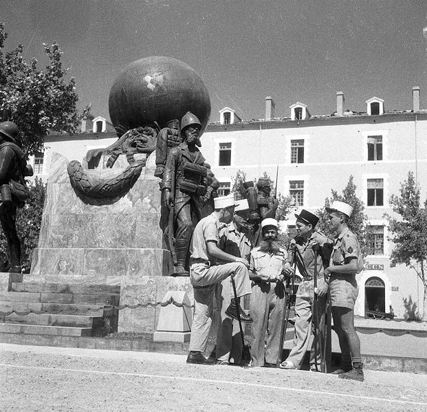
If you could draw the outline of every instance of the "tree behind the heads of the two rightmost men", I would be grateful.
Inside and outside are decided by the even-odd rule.
[[[366,224],[368,217],[364,214],[364,204],[362,200],[356,195],[357,186],[354,184],[353,176],[349,177],[347,186],[342,191],[342,195],[338,191],[331,189],[331,197],[325,199],[325,207],[329,207],[334,200],[348,203],[353,207],[353,213],[349,220],[349,228],[356,235],[359,240],[360,248],[362,248],[362,254],[366,256]],[[328,237],[333,237],[334,233],[329,225],[329,215],[325,208],[317,210],[319,222],[316,226],[320,232],[325,233]]]

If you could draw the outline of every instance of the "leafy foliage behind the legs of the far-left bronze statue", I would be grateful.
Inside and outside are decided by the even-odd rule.
[[[25,206],[17,210],[17,232],[21,240],[21,265],[24,272],[30,270],[32,251],[37,247],[37,243],[39,243],[46,185],[41,179],[36,177],[34,184],[31,184],[29,189],[30,197],[25,202]],[[7,270],[8,243],[6,243],[3,231],[0,233],[0,261],[3,265],[1,270]]]

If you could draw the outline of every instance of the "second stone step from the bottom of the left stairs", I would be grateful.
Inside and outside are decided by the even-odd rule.
[[[0,316],[2,323],[20,323],[26,325],[92,327],[94,319],[102,321],[102,316],[64,315],[64,314],[28,314],[20,316],[10,314]]]

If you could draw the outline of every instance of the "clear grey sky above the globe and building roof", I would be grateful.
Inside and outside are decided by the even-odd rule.
[[[47,64],[42,43],[57,41],[76,79],[78,108],[109,118],[111,85],[146,56],[178,58],[209,91],[210,121],[231,107],[245,120],[263,118],[265,96],[275,116],[303,102],[312,115],[412,109],[421,87],[427,109],[427,1],[397,0],[1,0],[0,21],[24,56]]]

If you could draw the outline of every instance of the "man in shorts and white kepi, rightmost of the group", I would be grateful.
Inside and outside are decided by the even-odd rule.
[[[363,258],[359,241],[348,226],[353,208],[335,201],[326,210],[331,228],[337,234],[331,263],[324,272],[331,294],[333,328],[342,354],[341,367],[333,373],[339,378],[363,381],[360,340],[354,328],[354,303],[358,297],[355,275],[363,269]]]

